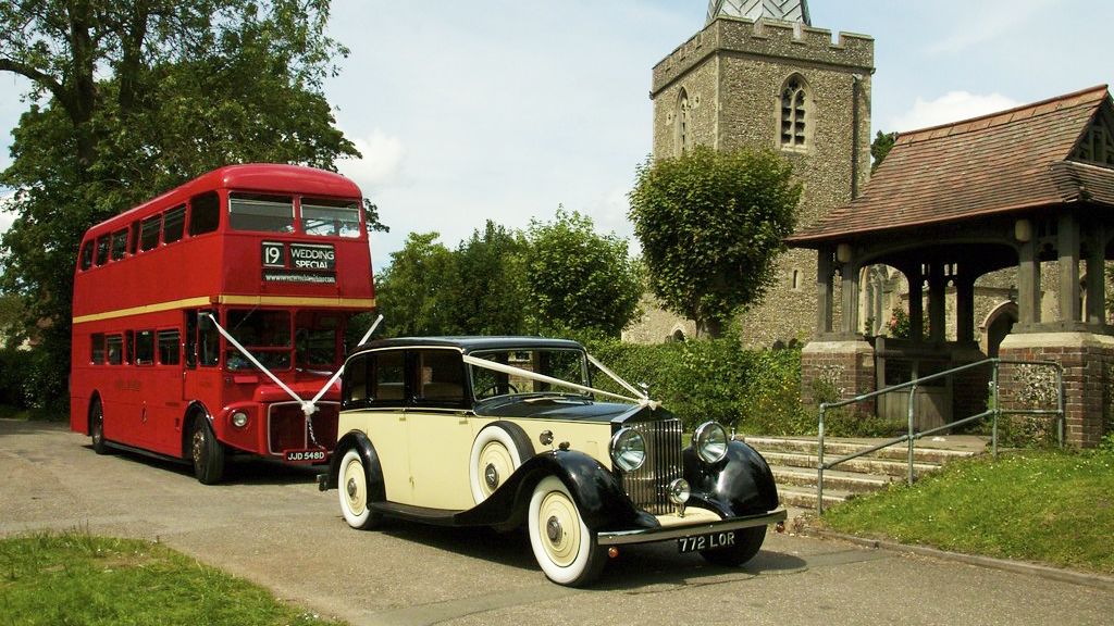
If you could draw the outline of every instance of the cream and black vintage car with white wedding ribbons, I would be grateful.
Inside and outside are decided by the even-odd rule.
[[[594,389],[596,370],[629,397]],[[319,483],[353,528],[525,522],[546,576],[584,585],[629,544],[739,565],[785,518],[758,452],[714,422],[683,448],[677,418],[574,341],[374,341],[349,358],[341,397]]]

